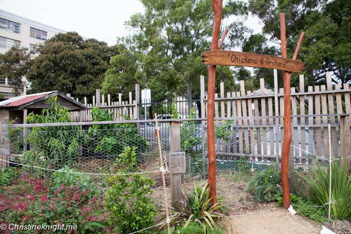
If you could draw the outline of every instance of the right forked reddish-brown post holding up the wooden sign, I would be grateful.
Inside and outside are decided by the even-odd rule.
[[[281,41],[281,57],[287,58],[286,51],[286,34],[285,34],[285,14],[279,14],[280,20],[280,41]],[[300,49],[302,39],[305,33],[303,32],[297,43],[297,47],[293,56],[293,60],[296,60],[298,51]],[[284,80],[284,140],[281,154],[281,187],[283,190],[283,207],[285,209],[290,206],[290,188],[289,188],[289,154],[290,154],[290,143],[291,143],[291,101],[290,101],[290,78],[291,72],[283,70]]]

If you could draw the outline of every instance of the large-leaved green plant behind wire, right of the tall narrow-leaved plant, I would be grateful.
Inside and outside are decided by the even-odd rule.
[[[94,107],[91,114],[93,122],[96,121],[113,121],[113,112],[108,114],[107,110],[99,110]],[[124,116],[124,118],[129,118]],[[142,138],[138,129],[132,123],[126,124],[99,124],[89,128],[89,134],[92,136],[93,143],[96,145],[94,152],[104,153],[116,157],[123,152],[127,146],[135,147],[135,152],[140,155],[141,149],[146,148],[149,143]]]

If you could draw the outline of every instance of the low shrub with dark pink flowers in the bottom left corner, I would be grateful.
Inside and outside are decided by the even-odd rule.
[[[42,179],[23,180],[30,184],[25,190],[26,196],[11,202],[12,199],[2,196],[5,202],[0,205],[0,223],[18,223],[33,225],[77,225],[79,233],[92,233],[105,224],[95,221],[102,211],[99,202],[90,189],[81,190],[78,185],[56,190],[49,189]],[[91,198],[93,197],[93,198]],[[9,198],[9,199],[8,199]],[[7,230],[9,233],[10,230]],[[17,233],[32,233],[33,230],[18,230]],[[67,233],[69,230],[57,231]]]

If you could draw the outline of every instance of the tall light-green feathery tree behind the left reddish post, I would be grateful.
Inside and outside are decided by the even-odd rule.
[[[213,30],[213,10],[210,0],[141,0],[144,14],[135,14],[126,22],[134,34],[120,38],[123,51],[111,60],[112,68],[106,72],[103,90],[128,86],[128,82],[157,84],[170,93],[192,97],[200,92],[200,75],[207,77],[201,53],[210,50]],[[241,5],[240,5],[241,6]],[[223,9],[228,20],[237,14],[238,5]],[[228,27],[234,45],[249,30],[242,22]],[[223,28],[222,28],[223,31]],[[230,46],[228,43],[224,46]],[[119,63],[114,63],[119,61]],[[132,65],[121,63],[133,61]],[[113,64],[112,64],[113,63]],[[125,65],[125,67],[123,67]],[[229,67],[221,67],[217,77],[233,81]],[[191,107],[190,107],[191,108]]]

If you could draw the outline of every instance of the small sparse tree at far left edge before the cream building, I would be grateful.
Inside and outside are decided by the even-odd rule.
[[[13,93],[19,96],[24,89],[24,77],[29,72],[33,60],[28,48],[13,46],[5,54],[0,54],[0,76],[8,78],[8,83],[13,86]]]

